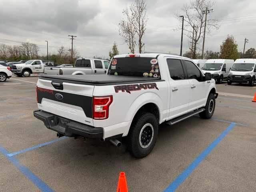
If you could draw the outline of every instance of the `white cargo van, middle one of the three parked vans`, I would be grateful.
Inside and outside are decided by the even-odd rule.
[[[222,83],[223,79],[228,78],[230,68],[234,64],[232,59],[208,59],[202,68],[202,72],[212,74],[212,78],[218,84]]]

